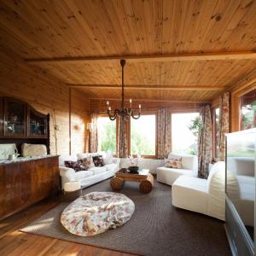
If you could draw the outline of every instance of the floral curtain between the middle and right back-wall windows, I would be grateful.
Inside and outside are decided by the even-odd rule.
[[[157,115],[157,157],[163,159],[172,150],[171,112],[169,109],[158,110]]]

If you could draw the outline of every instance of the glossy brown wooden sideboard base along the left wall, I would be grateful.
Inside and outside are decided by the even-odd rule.
[[[58,158],[0,164],[0,219],[60,192]]]

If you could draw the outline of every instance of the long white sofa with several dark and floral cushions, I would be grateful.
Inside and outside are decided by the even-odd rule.
[[[81,187],[86,188],[94,183],[101,182],[104,179],[113,177],[114,173],[119,170],[120,160],[113,158],[113,163],[102,167],[92,167],[87,171],[75,172],[72,168],[65,167],[66,160],[79,160],[85,158],[89,153],[84,154],[63,154],[59,158],[59,170],[61,175],[61,188],[67,182],[80,181]]]

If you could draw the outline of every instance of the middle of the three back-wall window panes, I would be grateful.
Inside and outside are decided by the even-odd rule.
[[[131,154],[155,155],[155,114],[131,119]]]

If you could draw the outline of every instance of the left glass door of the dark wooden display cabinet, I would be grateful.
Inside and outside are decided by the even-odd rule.
[[[18,101],[6,100],[4,135],[11,137],[26,136],[26,104]]]

